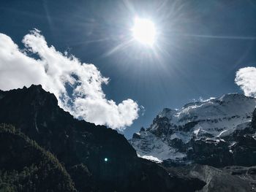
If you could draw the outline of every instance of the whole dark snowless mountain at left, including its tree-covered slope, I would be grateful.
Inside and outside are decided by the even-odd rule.
[[[0,132],[5,138],[1,140],[0,161],[4,163],[0,171],[10,177],[0,180],[0,191],[5,190],[6,183],[8,188],[22,187],[20,172],[26,167],[26,175],[30,175],[27,183],[37,187],[51,180],[48,191],[57,191],[53,183],[70,190],[74,187],[74,191],[195,191],[206,185],[203,180],[138,158],[123,135],[73,118],[40,85],[0,91],[0,123],[12,124],[18,130],[6,126]],[[51,160],[45,161],[48,157]],[[51,176],[35,183],[41,171],[37,174],[33,166],[42,167],[42,171],[47,166],[43,175]],[[64,179],[59,182],[60,178]]]

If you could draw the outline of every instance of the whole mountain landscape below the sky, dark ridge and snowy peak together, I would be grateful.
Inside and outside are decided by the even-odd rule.
[[[256,191],[255,104],[228,94],[164,109],[129,141],[136,152],[40,85],[0,91],[0,191]]]

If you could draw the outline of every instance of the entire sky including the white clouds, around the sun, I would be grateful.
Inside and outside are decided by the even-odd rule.
[[[132,40],[136,17],[154,46]],[[256,96],[255,67],[255,1],[0,1],[0,89],[42,84],[127,138],[165,107]]]

